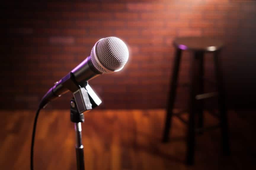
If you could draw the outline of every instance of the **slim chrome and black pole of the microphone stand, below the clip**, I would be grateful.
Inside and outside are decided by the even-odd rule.
[[[75,123],[76,131],[76,164],[77,170],[84,170],[84,146],[82,145],[81,122]]]

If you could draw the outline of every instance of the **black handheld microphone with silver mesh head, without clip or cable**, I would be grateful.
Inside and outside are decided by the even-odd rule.
[[[128,48],[121,39],[117,37],[100,39],[93,46],[90,56],[49,89],[39,107],[45,107],[53,99],[68,92],[70,88],[68,89],[67,86],[70,86],[71,81],[82,84],[100,74],[120,71],[128,58]]]

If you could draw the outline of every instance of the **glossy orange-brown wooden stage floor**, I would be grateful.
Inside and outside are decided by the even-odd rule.
[[[0,169],[29,169],[34,111],[1,111]],[[206,124],[214,124],[206,115]],[[252,115],[251,113],[248,115]],[[76,169],[75,133],[68,110],[43,110],[35,141],[35,170]],[[85,114],[85,169],[254,169],[254,120],[229,112],[231,156],[220,130],[196,138],[194,166],[185,165],[185,126],[173,118],[172,139],[161,143],[164,110],[94,110]],[[255,116],[254,116],[255,117]]]

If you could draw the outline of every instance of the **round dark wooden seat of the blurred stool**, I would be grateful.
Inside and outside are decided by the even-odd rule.
[[[223,47],[223,41],[217,37],[177,37],[174,45],[181,50],[216,51]]]

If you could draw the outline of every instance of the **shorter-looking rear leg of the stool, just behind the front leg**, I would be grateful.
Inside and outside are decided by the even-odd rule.
[[[196,52],[196,57],[198,60],[198,73],[197,73],[197,94],[204,93],[204,52]],[[203,100],[196,101],[196,113],[198,114],[198,128],[204,127],[204,102]],[[203,131],[201,131],[201,134]]]

